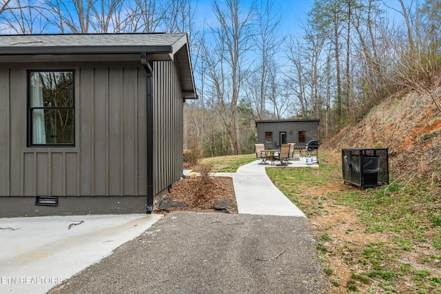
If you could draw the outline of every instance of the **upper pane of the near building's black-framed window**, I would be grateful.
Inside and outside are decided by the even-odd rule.
[[[72,107],[73,72],[31,72],[31,107]]]

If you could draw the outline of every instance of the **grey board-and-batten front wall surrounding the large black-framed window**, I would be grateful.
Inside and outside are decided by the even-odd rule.
[[[147,195],[143,67],[74,68],[76,145],[57,148],[26,146],[28,69],[0,70],[0,196]]]

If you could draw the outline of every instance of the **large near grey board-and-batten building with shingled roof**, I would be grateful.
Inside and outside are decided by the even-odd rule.
[[[193,98],[187,34],[0,35],[0,217],[151,213]]]

